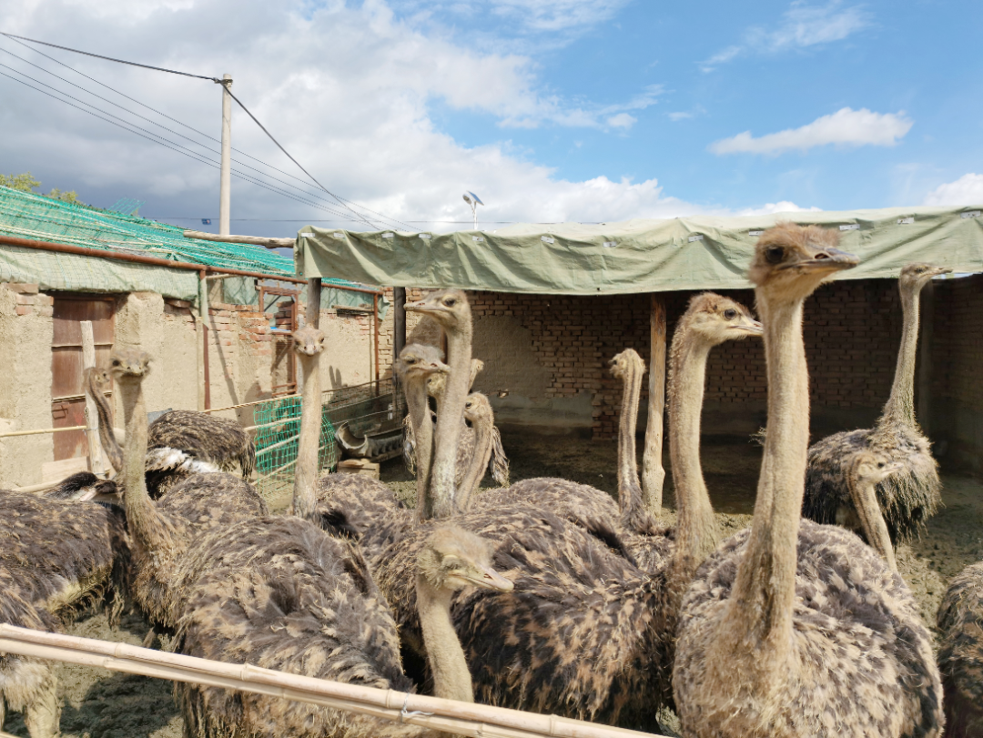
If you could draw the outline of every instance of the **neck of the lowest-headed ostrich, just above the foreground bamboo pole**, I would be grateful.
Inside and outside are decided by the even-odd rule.
[[[468,661],[450,621],[451,596],[417,575],[417,607],[427,661],[434,673],[434,697],[473,703]]]

